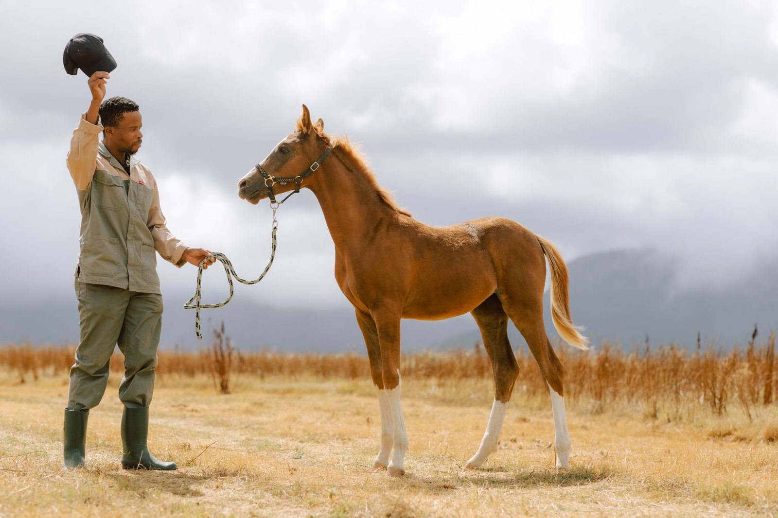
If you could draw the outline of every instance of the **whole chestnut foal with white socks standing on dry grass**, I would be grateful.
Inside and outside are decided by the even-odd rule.
[[[496,449],[519,374],[508,342],[509,319],[527,340],[548,384],[556,466],[569,468],[564,369],[543,325],[546,259],[557,332],[579,349],[587,349],[587,339],[571,322],[567,268],[554,245],[503,217],[450,227],[416,221],[377,184],[349,141],[325,134],[321,119],[311,123],[304,105],[295,131],[240,180],[238,194],[254,204],[267,197],[279,203],[276,194],[301,187],[313,191],[321,204],[335,242],[335,279],[353,304],[365,338],[381,418],[374,467],[393,476],[405,473],[400,319],[440,320],[469,312],[492,362],[495,395],[483,440],[467,468],[480,468]]]

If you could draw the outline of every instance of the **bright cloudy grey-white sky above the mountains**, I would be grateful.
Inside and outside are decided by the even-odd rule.
[[[141,106],[138,157],[170,229],[247,278],[268,260],[271,211],[236,184],[303,103],[428,224],[510,217],[568,261],[652,246],[682,259],[689,285],[778,255],[772,2],[3,0],[2,12],[6,301],[72,297],[80,214],[65,155],[89,90],[62,50],[80,32],[117,60],[108,95]],[[348,304],[313,194],[279,222],[271,273],[233,304]],[[195,268],[160,260],[159,273],[165,294],[194,291]],[[219,271],[205,283],[206,298],[226,293]]]

